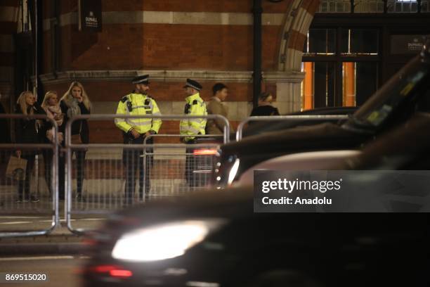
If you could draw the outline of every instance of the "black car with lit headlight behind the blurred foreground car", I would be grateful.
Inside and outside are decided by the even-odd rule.
[[[224,188],[264,160],[289,153],[360,148],[382,132],[426,110],[429,96],[430,42],[344,123],[294,127],[249,136],[221,146],[213,183]]]

